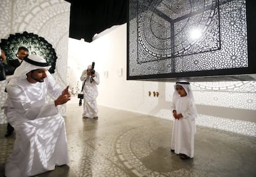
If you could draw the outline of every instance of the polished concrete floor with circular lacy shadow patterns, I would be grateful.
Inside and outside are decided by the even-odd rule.
[[[256,176],[256,138],[197,126],[195,157],[170,152],[173,122],[99,106],[99,119],[82,120],[82,107],[67,104],[70,163],[39,177]],[[0,125],[0,176],[15,134]]]

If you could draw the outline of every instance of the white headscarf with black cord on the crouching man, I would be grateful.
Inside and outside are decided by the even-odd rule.
[[[27,73],[31,72],[32,70],[41,68],[48,70],[50,67],[51,66],[49,63],[43,57],[31,55],[25,57],[22,64],[15,69],[13,78],[18,78],[19,80],[27,79]],[[47,71],[46,75],[50,75],[50,73]]]

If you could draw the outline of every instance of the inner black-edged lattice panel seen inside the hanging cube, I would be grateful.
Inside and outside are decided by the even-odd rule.
[[[153,1],[149,7],[139,3],[138,63],[220,49],[217,5],[216,1],[210,6],[165,0]],[[203,38],[190,39],[194,27],[202,28]]]

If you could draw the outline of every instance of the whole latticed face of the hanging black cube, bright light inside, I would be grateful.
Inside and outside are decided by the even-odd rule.
[[[129,76],[248,67],[244,0],[137,1]],[[231,42],[232,41],[232,42]]]

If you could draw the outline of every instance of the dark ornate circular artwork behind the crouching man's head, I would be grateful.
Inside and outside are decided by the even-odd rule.
[[[19,47],[27,47],[30,55],[33,54],[46,59],[51,65],[49,72],[54,73],[57,60],[56,52],[45,38],[24,31],[10,35],[8,39],[1,39],[0,46],[4,50],[7,60],[17,59],[16,54]]]

